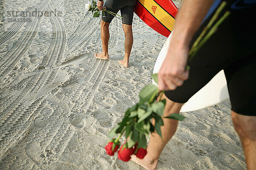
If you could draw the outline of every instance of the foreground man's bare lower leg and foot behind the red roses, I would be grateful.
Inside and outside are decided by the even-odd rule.
[[[172,102],[165,95],[163,98],[166,99],[166,106],[164,108],[163,116],[169,116],[172,113],[179,113],[182,103]],[[154,124],[154,122],[152,122]],[[157,133],[152,133],[150,135],[147,155],[144,159],[138,159],[136,156],[132,157],[132,161],[140,164],[147,170],[155,170],[157,168],[157,162],[160,157],[160,153],[167,144],[167,142],[172,138],[177,130],[178,121],[174,119],[163,118],[163,126],[161,126],[162,139]]]

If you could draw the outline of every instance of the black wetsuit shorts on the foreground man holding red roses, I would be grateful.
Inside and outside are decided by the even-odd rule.
[[[221,0],[215,0],[215,4],[217,1]],[[230,16],[188,63],[189,79],[181,87],[166,91],[165,94],[174,102],[185,103],[223,69],[231,110],[242,115],[256,116],[256,2],[228,2]],[[216,8],[212,14],[208,13],[209,16],[194,35],[191,46],[212,18]]]

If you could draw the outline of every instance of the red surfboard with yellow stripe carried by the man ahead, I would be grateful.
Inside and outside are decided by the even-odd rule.
[[[173,30],[178,8],[172,0],[137,0],[134,12],[152,29],[168,37]]]

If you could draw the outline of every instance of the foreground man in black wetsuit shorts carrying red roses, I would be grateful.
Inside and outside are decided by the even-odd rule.
[[[179,113],[182,105],[224,69],[230,94],[231,118],[239,135],[248,170],[256,170],[256,0],[228,0],[230,16],[202,46],[185,70],[188,52],[222,0],[184,0],[177,14],[169,51],[158,73],[165,91],[163,116]],[[224,13],[224,12],[223,12]],[[150,136],[144,159],[132,161],[154,170],[178,121],[163,119],[162,139]]]

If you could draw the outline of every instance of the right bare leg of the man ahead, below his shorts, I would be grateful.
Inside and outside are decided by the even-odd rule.
[[[129,67],[129,57],[131,54],[131,47],[133,44],[133,34],[132,34],[132,26],[131,25],[122,25],[125,32],[125,57],[123,60],[118,60],[120,64],[124,67]]]

